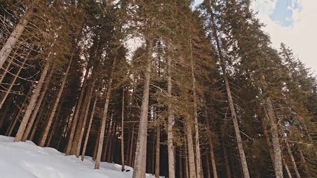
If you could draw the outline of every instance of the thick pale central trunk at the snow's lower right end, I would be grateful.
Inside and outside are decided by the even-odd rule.
[[[147,131],[148,131],[148,109],[149,109],[149,92],[150,92],[150,80],[151,80],[151,63],[152,63],[152,50],[153,40],[148,42],[147,51],[147,64],[144,71],[144,88],[141,105],[141,116],[139,123],[139,132],[137,147],[135,153],[134,170],[132,178],[144,178],[146,169],[146,155],[147,155]]]

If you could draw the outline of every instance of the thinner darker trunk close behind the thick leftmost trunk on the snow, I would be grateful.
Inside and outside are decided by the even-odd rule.
[[[54,72],[54,69],[51,69],[51,71],[49,73],[49,76],[47,78],[47,82],[46,82],[46,84],[44,86],[44,89],[41,92],[40,98],[39,98],[38,102],[36,103],[36,106],[35,106],[35,108],[34,108],[34,110],[32,112],[32,116],[31,116],[31,118],[29,120],[29,123],[28,123],[28,125],[27,125],[27,127],[26,127],[26,129],[24,131],[24,134],[23,134],[23,137],[22,137],[22,141],[26,141],[26,139],[28,138],[28,136],[29,136],[29,134],[31,132],[31,129],[32,129],[34,120],[36,118],[36,115],[38,114],[38,111],[39,111],[40,106],[42,104],[43,98],[44,98],[44,96],[46,94],[46,91],[49,88],[49,85],[50,85],[50,82],[51,82],[51,78],[53,76],[53,72]]]

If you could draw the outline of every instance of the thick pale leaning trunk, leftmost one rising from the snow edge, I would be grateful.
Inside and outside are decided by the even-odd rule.
[[[40,91],[41,91],[44,79],[45,79],[45,77],[46,77],[46,75],[47,75],[47,73],[49,71],[49,68],[50,68],[50,63],[49,63],[49,61],[46,61],[43,73],[41,75],[41,78],[40,78],[40,80],[38,82],[38,85],[37,85],[34,93],[32,94],[30,103],[28,105],[28,108],[25,111],[25,114],[23,116],[23,119],[22,119],[22,122],[20,124],[19,130],[18,130],[18,132],[15,135],[14,141],[21,141],[22,140],[22,136],[24,134],[26,125],[29,122],[29,119],[30,119],[30,116],[31,116],[31,113],[32,113],[32,110],[33,110],[33,107],[34,107],[34,104],[35,104],[35,102],[36,102],[36,100],[38,98],[38,95],[39,95]]]

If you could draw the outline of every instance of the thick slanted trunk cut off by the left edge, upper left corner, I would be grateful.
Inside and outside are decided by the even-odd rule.
[[[2,46],[2,48],[0,50],[0,68],[2,68],[4,61],[8,58],[13,47],[16,45],[17,41],[19,40],[20,36],[22,35],[22,33],[25,29],[25,26],[28,24],[28,18],[29,18],[29,13],[28,13],[28,11],[26,11],[23,18],[20,20],[20,22],[14,28],[10,37],[6,40],[5,44]]]

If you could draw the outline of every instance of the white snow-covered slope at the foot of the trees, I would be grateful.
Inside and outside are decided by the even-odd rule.
[[[0,178],[132,178],[131,167],[121,172],[117,164],[102,162],[100,170],[94,170],[94,165],[89,156],[81,161],[53,148],[41,148],[31,141],[13,142],[13,137],[0,135]]]

